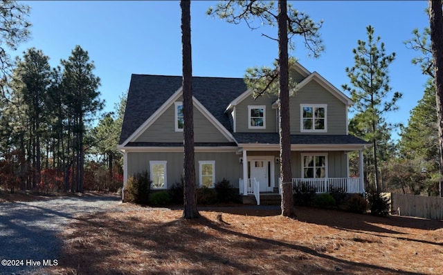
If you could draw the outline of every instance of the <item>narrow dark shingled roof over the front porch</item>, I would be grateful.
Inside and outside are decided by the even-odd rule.
[[[233,133],[239,144],[279,144],[278,133]],[[369,145],[353,135],[291,135],[291,144]]]

